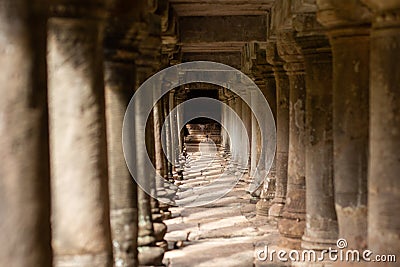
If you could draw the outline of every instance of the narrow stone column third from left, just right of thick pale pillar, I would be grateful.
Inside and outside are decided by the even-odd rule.
[[[137,185],[122,150],[122,123],[133,95],[135,65],[129,47],[119,47],[121,41],[129,43],[119,38],[129,29],[121,28],[119,22],[110,18],[106,26],[104,75],[114,265],[128,267],[138,266],[138,209]]]

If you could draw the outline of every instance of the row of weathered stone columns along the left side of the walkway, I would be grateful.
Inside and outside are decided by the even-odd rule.
[[[145,1],[1,4],[1,62],[8,66],[0,78],[7,96],[0,127],[2,266],[162,265],[166,226],[158,203],[132,179],[121,142],[135,85],[161,67],[156,10],[156,2]],[[161,133],[163,112],[176,100],[163,110],[165,103],[151,132]],[[176,130],[168,135],[179,136]],[[157,137],[148,138],[155,166],[167,174]],[[166,191],[172,198],[175,191]],[[162,211],[168,214],[168,205]]]

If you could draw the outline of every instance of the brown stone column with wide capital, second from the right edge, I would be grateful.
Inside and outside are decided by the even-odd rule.
[[[319,1],[333,54],[334,187],[339,236],[367,245],[369,9],[360,1]],[[351,10],[351,12],[350,12]],[[347,12],[348,11],[348,12]]]

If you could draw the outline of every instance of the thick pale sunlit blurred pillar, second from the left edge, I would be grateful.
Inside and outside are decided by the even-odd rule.
[[[105,1],[53,1],[48,28],[54,266],[112,266]]]

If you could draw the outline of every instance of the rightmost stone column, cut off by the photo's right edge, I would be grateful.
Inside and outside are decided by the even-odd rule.
[[[374,254],[399,257],[400,1],[364,2],[374,10],[370,48],[368,248]]]

